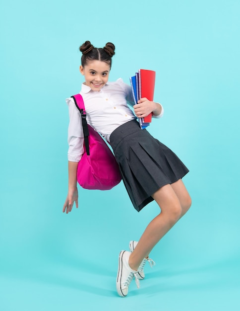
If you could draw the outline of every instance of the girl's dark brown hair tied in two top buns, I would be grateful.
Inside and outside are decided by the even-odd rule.
[[[80,48],[82,52],[81,63],[84,67],[89,61],[102,61],[112,66],[112,57],[115,54],[115,45],[108,42],[104,48],[95,48],[90,41],[84,42]]]

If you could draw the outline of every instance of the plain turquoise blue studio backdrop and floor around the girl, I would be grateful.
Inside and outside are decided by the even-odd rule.
[[[240,309],[240,2],[2,1],[0,310]],[[154,248],[141,288],[115,290],[118,254],[157,215],[123,184],[79,189],[65,215],[65,98],[79,45],[116,45],[110,80],[156,71],[165,115],[149,131],[190,169],[188,214]]]

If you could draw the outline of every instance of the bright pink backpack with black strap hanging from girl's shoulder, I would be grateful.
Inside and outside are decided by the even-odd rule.
[[[98,132],[87,124],[82,96],[71,97],[80,111],[84,135],[84,154],[77,166],[77,181],[85,189],[112,189],[121,181],[115,156]]]

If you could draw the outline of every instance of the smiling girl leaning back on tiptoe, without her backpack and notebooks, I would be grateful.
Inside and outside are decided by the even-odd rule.
[[[122,180],[134,208],[139,212],[155,200],[161,212],[147,226],[138,242],[130,241],[130,251],[119,255],[117,291],[127,295],[128,286],[135,277],[144,278],[143,267],[156,243],[177,223],[191,205],[190,196],[181,180],[188,169],[165,145],[154,139],[146,129],[141,130],[136,118],[153,113],[163,115],[162,105],[141,98],[134,105],[131,87],[121,79],[108,82],[115,54],[115,46],[107,43],[104,48],[95,48],[86,41],[80,46],[82,52],[80,73],[84,76],[81,95],[87,112],[87,122],[110,142]],[[68,128],[68,194],[63,212],[71,212],[75,202],[78,208],[76,171],[83,154],[83,132],[80,114],[72,98],[67,98],[69,107]],[[134,113],[127,106],[133,106]]]

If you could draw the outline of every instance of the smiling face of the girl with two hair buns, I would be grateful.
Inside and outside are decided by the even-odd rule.
[[[93,91],[100,91],[108,82],[110,65],[102,61],[91,61],[84,67],[80,66],[80,73],[85,77],[86,85]]]

